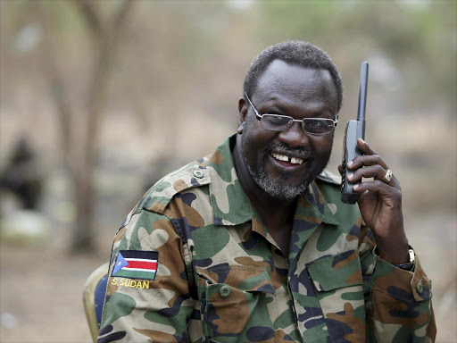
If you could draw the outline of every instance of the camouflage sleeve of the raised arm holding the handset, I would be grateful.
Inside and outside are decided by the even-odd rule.
[[[362,227],[359,251],[367,314],[366,341],[434,342],[431,280],[418,255],[414,271],[407,272],[375,255],[374,247],[371,230]]]

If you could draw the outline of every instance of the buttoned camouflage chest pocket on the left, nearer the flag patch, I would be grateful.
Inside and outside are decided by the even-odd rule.
[[[275,290],[267,269],[220,264],[195,271],[206,340],[247,342],[270,334],[267,304]]]

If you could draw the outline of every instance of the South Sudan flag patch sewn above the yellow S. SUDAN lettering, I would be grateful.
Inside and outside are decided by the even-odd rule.
[[[112,276],[154,280],[159,262],[157,251],[120,250]]]

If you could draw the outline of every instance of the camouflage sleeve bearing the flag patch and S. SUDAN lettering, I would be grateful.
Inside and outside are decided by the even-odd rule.
[[[112,245],[98,343],[187,341],[193,301],[181,238],[159,213],[127,222]]]

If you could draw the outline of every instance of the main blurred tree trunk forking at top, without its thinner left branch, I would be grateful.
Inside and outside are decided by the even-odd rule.
[[[76,1],[80,13],[87,21],[87,27],[95,39],[95,72],[89,88],[87,100],[86,131],[82,140],[81,163],[73,174],[77,207],[76,225],[73,229],[71,250],[73,252],[92,252],[96,248],[94,241],[94,213],[96,189],[94,174],[96,169],[96,146],[102,121],[108,78],[119,45],[120,33],[133,2],[125,0],[111,23],[103,26],[92,2]]]

